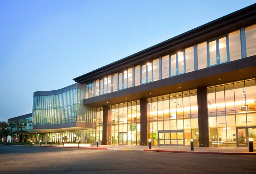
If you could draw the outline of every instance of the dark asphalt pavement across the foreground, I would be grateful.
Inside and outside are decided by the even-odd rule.
[[[256,173],[256,156],[1,146],[0,173]]]

